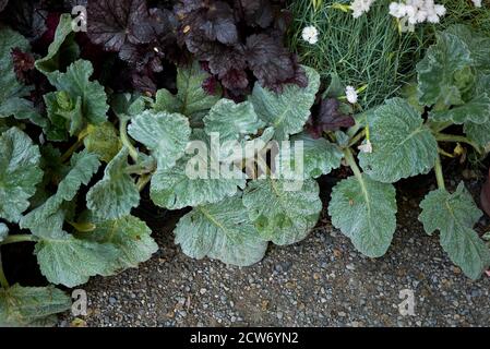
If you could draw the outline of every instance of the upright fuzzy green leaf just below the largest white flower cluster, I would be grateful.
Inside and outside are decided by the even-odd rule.
[[[417,64],[419,101],[426,106],[443,103],[461,105],[462,96],[456,85],[456,72],[470,67],[474,61],[465,43],[450,33],[439,33],[438,43],[427,50]]]

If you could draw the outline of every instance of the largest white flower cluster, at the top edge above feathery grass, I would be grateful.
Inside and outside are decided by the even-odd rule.
[[[390,4],[390,14],[405,19],[409,25],[423,22],[439,23],[445,12],[444,5],[434,3],[434,0],[405,0]]]

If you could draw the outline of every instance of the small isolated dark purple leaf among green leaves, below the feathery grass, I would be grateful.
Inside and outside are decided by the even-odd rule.
[[[320,112],[310,118],[307,129],[313,137],[319,139],[323,132],[350,128],[355,123],[351,116],[342,113],[338,99],[327,98],[322,100]]]

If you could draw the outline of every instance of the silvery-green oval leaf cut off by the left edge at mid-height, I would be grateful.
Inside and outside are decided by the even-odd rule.
[[[17,222],[43,180],[39,148],[17,128],[0,136],[0,218]]]

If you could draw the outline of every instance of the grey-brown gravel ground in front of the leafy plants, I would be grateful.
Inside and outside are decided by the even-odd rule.
[[[398,194],[398,229],[379,260],[356,252],[327,218],[294,246],[272,246],[249,268],[193,261],[156,234],[160,251],[139,269],[93,278],[87,326],[488,326],[490,277],[466,278]],[[483,225],[488,225],[483,218]],[[414,291],[415,315],[399,313]],[[73,317],[65,315],[61,326]]]

